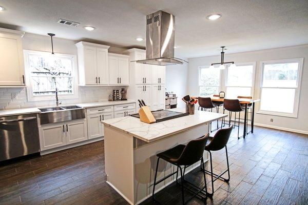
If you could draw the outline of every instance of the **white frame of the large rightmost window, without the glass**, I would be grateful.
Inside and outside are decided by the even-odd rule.
[[[260,103],[259,103],[259,111],[257,112],[257,114],[276,115],[276,116],[293,117],[293,118],[298,117],[298,107],[299,107],[299,100],[300,100],[303,60],[304,60],[304,58],[291,58],[291,59],[260,61],[260,71],[261,71],[260,72],[260,82],[259,82],[260,83]],[[296,87],[287,87],[287,88],[284,88],[284,87],[263,87],[262,84],[263,84],[264,64],[294,63],[294,62],[298,62],[298,75],[297,75],[297,86]],[[261,110],[262,88],[295,89],[293,113]],[[277,102],[273,102],[273,103],[277,103]]]

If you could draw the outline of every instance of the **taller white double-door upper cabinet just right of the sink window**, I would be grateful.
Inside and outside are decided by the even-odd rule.
[[[80,85],[108,85],[109,46],[79,42],[78,67]]]

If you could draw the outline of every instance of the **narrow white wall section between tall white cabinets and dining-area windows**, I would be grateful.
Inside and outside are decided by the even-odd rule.
[[[178,107],[184,108],[181,98],[187,95],[188,65],[166,66],[166,91],[174,92],[178,96]]]

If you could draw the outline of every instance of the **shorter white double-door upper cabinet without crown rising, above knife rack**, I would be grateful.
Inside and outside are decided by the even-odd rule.
[[[109,84],[129,85],[129,56],[109,53]]]

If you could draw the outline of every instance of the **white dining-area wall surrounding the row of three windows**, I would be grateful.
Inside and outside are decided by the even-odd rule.
[[[255,124],[263,124],[281,128],[284,130],[296,131],[308,134],[308,45],[293,46],[277,49],[267,49],[243,53],[225,54],[225,61],[235,61],[235,63],[244,63],[256,61],[256,80],[254,97],[260,98],[260,61],[263,60],[276,60],[288,58],[304,58],[302,80],[301,80],[301,93],[299,101],[298,118],[281,117],[273,115],[256,114]],[[198,86],[198,67],[217,63],[220,60],[220,55],[207,56],[199,58],[190,58],[188,64],[188,93],[190,95],[199,95]],[[273,103],[279,103],[273,102]],[[256,104],[256,112],[259,109],[259,103]],[[270,122],[273,118],[274,121]]]

